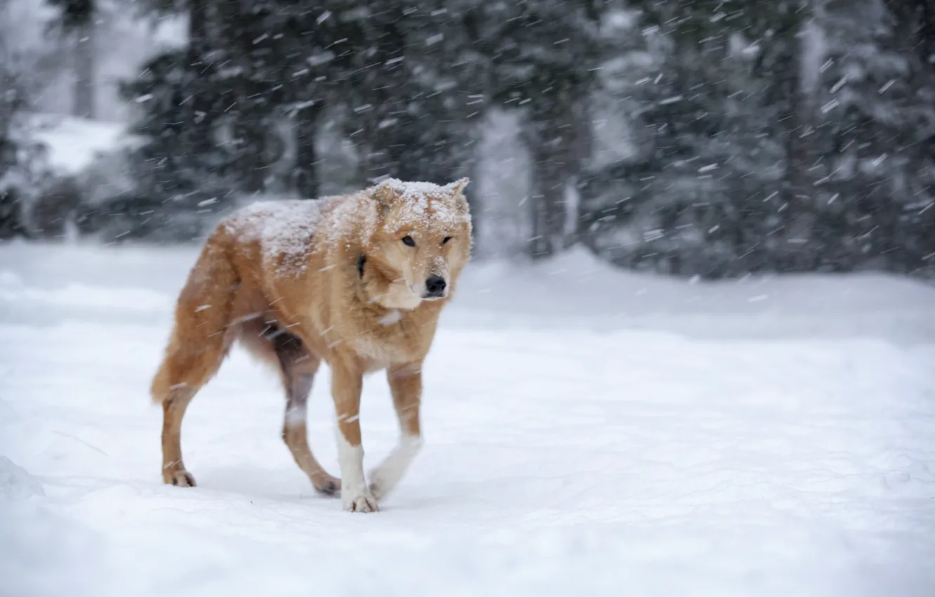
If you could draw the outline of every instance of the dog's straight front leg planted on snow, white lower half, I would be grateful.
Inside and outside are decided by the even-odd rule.
[[[376,512],[374,499],[364,479],[364,445],[360,437],[361,371],[335,363],[331,369],[331,397],[338,415],[338,463],[341,467],[341,502],[350,512]]]

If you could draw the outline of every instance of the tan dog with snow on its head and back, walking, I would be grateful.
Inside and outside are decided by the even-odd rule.
[[[422,366],[439,315],[471,252],[463,178],[446,185],[387,179],[350,195],[257,202],[205,241],[176,304],[151,384],[163,407],[163,480],[194,487],[181,422],[199,388],[241,344],[279,372],[282,439],[314,488],[345,510],[377,512],[422,445]],[[321,362],[331,370],[341,478],[309,449],[306,402]],[[360,397],[386,371],[400,439],[367,484]]]

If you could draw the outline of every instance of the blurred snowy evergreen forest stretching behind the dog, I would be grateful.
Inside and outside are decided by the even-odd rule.
[[[935,0],[32,1],[41,44],[0,25],[0,238],[187,241],[256,197],[470,176],[479,255],[935,277]],[[36,74],[106,120],[118,17],[186,35],[119,83],[133,142],[57,174]]]

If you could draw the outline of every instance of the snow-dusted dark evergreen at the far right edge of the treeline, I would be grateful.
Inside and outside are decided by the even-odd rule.
[[[917,53],[923,29],[874,1],[827,8],[821,132],[831,174],[819,226],[827,267],[930,269],[935,72]]]

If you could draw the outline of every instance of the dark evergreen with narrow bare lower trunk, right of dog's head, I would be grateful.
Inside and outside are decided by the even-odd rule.
[[[525,113],[534,258],[554,255],[573,241],[566,235],[567,197],[590,157],[588,98],[597,67],[620,42],[601,36],[603,4],[456,3],[472,50],[484,61],[490,101]]]

